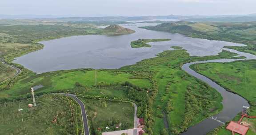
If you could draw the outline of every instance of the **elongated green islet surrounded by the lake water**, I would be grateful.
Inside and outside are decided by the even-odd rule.
[[[142,47],[151,47],[151,45],[147,44],[150,42],[161,42],[161,41],[169,41],[170,39],[152,39],[152,40],[148,40],[148,39],[139,39],[136,41],[132,41],[131,42],[131,47],[132,48],[142,48]]]

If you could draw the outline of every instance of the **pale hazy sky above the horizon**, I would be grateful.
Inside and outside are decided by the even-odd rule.
[[[256,13],[256,0],[0,0],[0,14],[71,16]]]

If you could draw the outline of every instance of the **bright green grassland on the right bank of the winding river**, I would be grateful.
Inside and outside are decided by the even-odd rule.
[[[249,115],[256,115],[256,60],[236,61],[230,63],[208,63],[192,65],[192,68],[203,74],[229,91],[235,92],[245,99],[251,105]],[[234,119],[238,120],[239,115]],[[256,119],[244,119],[251,123],[248,135],[256,134]],[[226,135],[224,127],[216,129],[212,135]],[[230,133],[229,133],[230,134]]]

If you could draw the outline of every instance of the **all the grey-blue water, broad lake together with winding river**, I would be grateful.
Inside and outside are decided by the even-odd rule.
[[[135,64],[136,62],[155,57],[155,54],[164,50],[172,50],[171,46],[181,46],[188,50],[190,56],[209,56],[217,55],[224,46],[243,46],[224,41],[204,40],[189,38],[180,34],[168,32],[156,32],[140,29],[140,26],[156,24],[136,23],[125,25],[124,27],[136,31],[136,33],[122,36],[71,36],[57,40],[42,41],[45,47],[42,50],[29,53],[14,60],[14,63],[40,74],[47,71],[67,70],[75,68],[120,68],[125,65]],[[131,48],[130,42],[137,39],[158,39],[167,38],[171,41],[150,43],[151,48]],[[225,49],[235,52],[247,59],[256,59],[256,56]],[[212,118],[205,119],[199,124],[188,128],[182,135],[205,135],[212,129],[234,118],[241,110],[242,106],[249,106],[248,102],[239,95],[226,91],[223,87],[213,82],[211,79],[193,71],[189,66],[192,64],[209,62],[231,62],[235,60],[209,60],[184,64],[182,69],[188,74],[208,83],[223,96],[223,110]]]

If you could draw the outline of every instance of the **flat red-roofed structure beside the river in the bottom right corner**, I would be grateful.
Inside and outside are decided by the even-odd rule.
[[[238,133],[240,135],[246,135],[247,131],[249,130],[249,127],[231,121],[226,127],[226,129]]]

